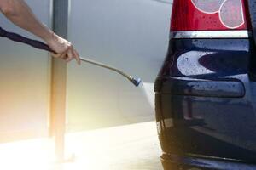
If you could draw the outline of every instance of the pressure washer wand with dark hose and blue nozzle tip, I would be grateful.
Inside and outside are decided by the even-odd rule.
[[[49,48],[49,46],[47,44],[45,44],[44,42],[39,42],[37,40],[32,40],[29,39],[27,37],[22,37],[19,34],[13,33],[13,32],[9,32],[9,31],[5,31],[3,30],[3,28],[0,27],[0,37],[7,37],[12,41],[15,42],[22,42],[22,43],[26,43],[27,45],[32,46],[33,48],[38,48],[38,49],[43,49],[46,51],[49,51],[51,53],[55,53],[51,48]],[[136,78],[136,77],[132,77],[127,75],[124,71],[120,71],[119,69],[110,66],[110,65],[105,65],[99,62],[96,62],[94,60],[91,59],[84,59],[84,58],[80,58],[82,61],[86,62],[86,63],[90,63],[92,65],[97,65],[103,68],[106,68],[108,70],[111,71],[115,71],[117,73],[119,73],[120,75],[122,75],[123,77],[127,78],[130,82],[132,82],[136,87],[139,86],[139,84],[142,82],[140,78]]]

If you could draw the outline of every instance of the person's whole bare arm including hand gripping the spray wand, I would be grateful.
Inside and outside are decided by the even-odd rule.
[[[53,54],[55,57],[65,59],[67,62],[76,59],[80,64],[79,54],[73,44],[44,26],[24,0],[0,0],[0,10],[16,26],[41,37],[49,45],[49,48],[57,53]]]

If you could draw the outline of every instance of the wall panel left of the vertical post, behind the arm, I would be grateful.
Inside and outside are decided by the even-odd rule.
[[[49,25],[49,1],[26,0]],[[0,26],[33,37],[0,14]],[[0,141],[47,133],[50,63],[46,52],[0,38]]]

